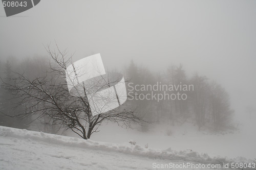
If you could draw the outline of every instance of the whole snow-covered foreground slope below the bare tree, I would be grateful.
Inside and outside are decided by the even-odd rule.
[[[153,165],[251,161],[210,158],[191,150],[145,149],[129,142],[115,144],[0,127],[0,169],[157,169]]]

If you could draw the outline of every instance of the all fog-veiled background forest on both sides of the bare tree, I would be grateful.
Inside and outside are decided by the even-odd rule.
[[[42,105],[40,103],[35,103],[33,107],[29,107],[31,101],[24,100],[28,96],[19,93],[18,90],[13,91],[6,87],[7,85],[22,84],[20,78],[17,79],[20,75],[31,82],[42,77],[56,77],[55,72],[51,70],[54,64],[50,63],[52,63],[52,59],[49,56],[34,56],[20,60],[9,57],[7,60],[1,60],[0,111],[2,114],[0,126],[57,134],[61,128],[70,128],[70,124],[74,124],[73,120],[71,123],[65,122],[66,120],[62,120],[62,123],[56,123],[57,119],[51,117],[51,113],[49,113],[52,110],[47,110],[48,113],[44,114],[42,110],[35,109],[36,105]],[[136,64],[135,60],[131,60],[119,71],[126,79],[128,92],[128,100],[124,107],[132,110],[136,116],[141,118],[142,121],[134,121],[139,123],[141,131],[148,131],[151,124],[181,126],[184,123],[192,123],[197,126],[199,131],[207,130],[215,133],[238,128],[238,125],[233,122],[234,111],[230,108],[229,94],[221,84],[208,79],[200,72],[195,72],[193,76],[188,77],[182,63],[179,65],[170,64],[164,70],[162,72],[153,71],[141,64]],[[60,82],[66,81],[65,77],[58,77],[57,79],[61,79]],[[52,82],[49,81],[48,83],[50,83],[48,88],[51,89]],[[154,89],[138,89],[138,87],[152,87],[156,84],[166,85],[166,87],[192,85],[193,89],[177,88],[174,91],[156,91],[157,95],[161,94],[161,96],[167,95],[166,93],[184,94],[186,96],[184,100],[148,100],[145,99],[145,95],[151,94]],[[54,90],[56,89],[51,89],[51,91]],[[136,93],[134,93],[135,90]],[[56,95],[59,94],[56,93]],[[138,99],[135,95],[144,97]],[[83,121],[81,120],[81,122]],[[133,127],[133,125],[132,123],[129,127]],[[74,128],[75,126],[72,125],[71,127]]]

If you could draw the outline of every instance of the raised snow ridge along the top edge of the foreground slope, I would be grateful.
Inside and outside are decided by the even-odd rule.
[[[124,154],[130,154],[134,156],[148,157],[152,159],[166,159],[166,160],[177,160],[177,161],[189,161],[198,163],[212,163],[212,164],[223,164],[223,162],[252,162],[253,160],[247,160],[242,157],[236,159],[228,159],[221,157],[211,158],[207,154],[199,154],[198,152],[192,150],[186,151],[173,151],[171,148],[167,150],[157,150],[157,149],[146,149],[142,148],[140,145],[133,145],[129,142],[116,144],[108,142],[98,142],[93,140],[84,140],[75,137],[60,136],[54,134],[47,134],[43,132],[28,131],[22,129],[8,128],[0,126],[0,136],[1,137],[11,137],[18,140],[18,138],[37,140],[42,142],[47,142],[51,144],[61,144],[66,147],[77,147],[77,148],[88,148],[93,150],[103,150],[111,152],[119,152]],[[255,161],[254,161],[255,162]]]

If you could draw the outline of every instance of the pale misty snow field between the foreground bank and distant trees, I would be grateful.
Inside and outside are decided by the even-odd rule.
[[[92,135],[92,140],[122,143],[130,139],[149,148],[167,149],[176,151],[193,150],[207,153],[211,157],[247,159],[256,158],[255,129],[256,119],[241,121],[239,130],[214,133],[198,131],[197,126],[183,124],[182,126],[152,125],[148,132],[138,129],[122,129],[117,125],[108,124],[99,128],[100,132]],[[168,134],[168,132],[170,133]],[[69,133],[69,136],[76,134]]]

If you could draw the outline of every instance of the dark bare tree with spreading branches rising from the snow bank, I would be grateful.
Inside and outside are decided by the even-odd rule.
[[[89,139],[98,132],[98,127],[103,121],[115,122],[120,126],[131,127],[132,123],[143,123],[133,110],[127,110],[125,105],[97,115],[92,114],[88,100],[88,90],[100,91],[106,86],[110,87],[115,81],[109,77],[101,77],[101,80],[91,81],[90,89],[74,86],[74,90],[83,95],[71,95],[67,85],[67,68],[72,62],[72,56],[67,57],[66,50],[60,51],[56,45],[56,51],[46,47],[52,61],[47,74],[42,77],[29,79],[25,74],[15,72],[15,83],[3,83],[3,88],[16,96],[22,96],[22,100],[16,106],[25,106],[17,116],[26,118],[36,115],[37,118],[48,117],[47,124],[57,125],[59,128],[71,129],[83,139]],[[104,83],[102,83],[104,82]],[[108,99],[99,99],[108,100]],[[108,101],[107,101],[108,102]],[[111,100],[109,101],[111,102]]]

